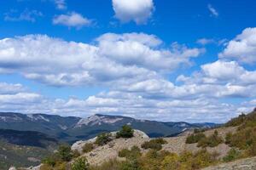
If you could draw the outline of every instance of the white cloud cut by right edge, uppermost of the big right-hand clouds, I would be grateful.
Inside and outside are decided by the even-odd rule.
[[[236,59],[241,63],[256,63],[256,28],[247,28],[235,39],[228,42],[224,51],[220,53],[221,59]]]

